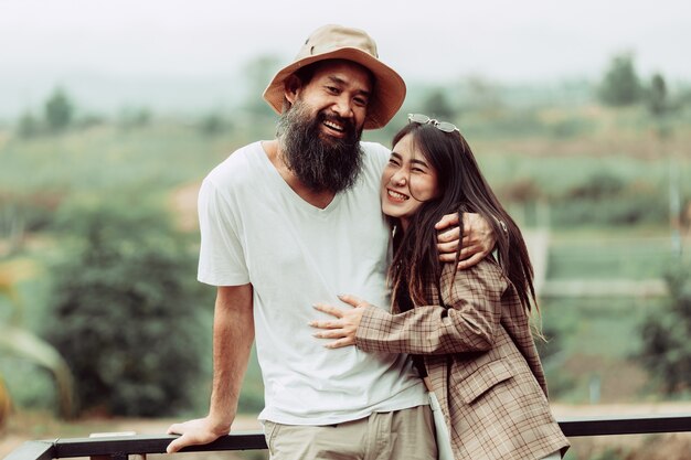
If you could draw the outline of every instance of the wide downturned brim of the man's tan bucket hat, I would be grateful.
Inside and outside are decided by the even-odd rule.
[[[382,128],[396,115],[405,99],[405,82],[393,68],[371,54],[354,47],[342,47],[329,53],[307,56],[284,67],[264,90],[264,99],[277,114],[280,114],[286,78],[300,67],[325,60],[352,61],[366,67],[374,75],[374,92],[368,105],[364,129]]]

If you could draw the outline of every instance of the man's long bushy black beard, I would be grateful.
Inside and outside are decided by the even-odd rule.
[[[343,138],[322,133],[323,121],[342,126]],[[338,193],[355,183],[362,167],[360,137],[353,122],[323,111],[312,117],[300,100],[280,115],[278,137],[288,169],[310,190]],[[326,139],[325,139],[326,138]]]

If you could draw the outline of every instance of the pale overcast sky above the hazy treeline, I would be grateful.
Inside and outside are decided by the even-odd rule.
[[[642,76],[691,81],[688,0],[0,0],[0,97],[13,76],[231,75],[325,23],[366,30],[406,79],[595,78],[631,52]]]

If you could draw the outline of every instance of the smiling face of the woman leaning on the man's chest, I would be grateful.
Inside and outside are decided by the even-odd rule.
[[[426,201],[437,197],[437,172],[427,164],[413,136],[404,136],[393,147],[382,173],[382,212],[401,220],[403,229]]]

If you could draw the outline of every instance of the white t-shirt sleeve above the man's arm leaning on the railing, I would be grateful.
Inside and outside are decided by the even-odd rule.
[[[209,178],[199,192],[201,247],[196,278],[212,286],[241,286],[249,282],[240,236],[240,220],[231,196]]]

